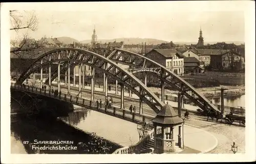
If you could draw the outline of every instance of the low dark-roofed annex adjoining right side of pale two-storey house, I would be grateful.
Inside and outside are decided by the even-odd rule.
[[[184,57],[184,74],[203,73],[204,65],[195,57]]]

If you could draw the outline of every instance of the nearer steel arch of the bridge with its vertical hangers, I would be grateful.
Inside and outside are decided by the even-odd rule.
[[[114,50],[110,55],[114,55],[117,50]],[[60,89],[60,65],[62,69],[68,69],[69,76],[69,92],[70,92],[70,68],[72,65],[79,66],[79,81],[81,81],[81,65],[88,65],[94,73],[94,69],[97,69],[105,74],[104,87],[108,86],[108,77],[117,80],[121,84],[121,108],[124,108],[124,86],[130,91],[140,97],[140,104],[145,102],[148,106],[152,108],[156,113],[159,111],[159,107],[164,106],[162,102],[153,92],[151,92],[138,78],[136,78],[131,72],[121,68],[116,62],[111,59],[105,58],[100,54],[91,52],[89,50],[82,50],[76,48],[58,48],[49,52],[42,54],[38,57],[26,71],[24,71],[17,79],[17,84],[22,84],[25,79],[33,73],[33,83],[35,83],[35,71],[40,69],[41,71],[41,81],[42,86],[42,69],[44,67],[49,67],[49,79],[51,79],[51,65],[53,63],[58,64],[57,76],[58,76],[58,90]],[[116,71],[111,71],[116,70]],[[115,73],[112,73],[115,72]],[[92,74],[93,75],[93,74]],[[94,76],[94,75],[93,75]],[[94,83],[94,78],[92,78]],[[92,83],[92,84],[93,84]],[[49,83],[50,85],[51,83]],[[80,84],[80,83],[79,83]],[[91,85],[93,86],[93,85]],[[94,87],[91,87],[92,99]],[[108,89],[105,88],[105,97],[108,96]],[[81,85],[79,85],[79,97],[81,97]],[[155,102],[153,102],[153,100]],[[142,106],[142,105],[140,105]]]

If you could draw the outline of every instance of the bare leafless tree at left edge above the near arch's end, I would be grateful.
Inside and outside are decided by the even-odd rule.
[[[29,66],[35,54],[44,49],[46,38],[36,41],[29,37],[30,32],[37,30],[38,19],[34,12],[11,10],[10,22],[10,31],[16,36],[15,40],[11,40],[11,58],[18,59],[11,60],[11,72],[16,72],[15,76],[18,76],[18,72],[24,71],[24,68],[21,68],[21,66]],[[22,41],[18,44],[20,33],[23,33],[20,38]]]

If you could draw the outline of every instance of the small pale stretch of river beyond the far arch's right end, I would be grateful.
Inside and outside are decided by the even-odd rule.
[[[221,104],[221,97],[212,98],[212,103]],[[245,107],[245,95],[235,95],[224,97],[224,105],[232,107]]]

